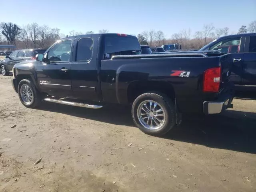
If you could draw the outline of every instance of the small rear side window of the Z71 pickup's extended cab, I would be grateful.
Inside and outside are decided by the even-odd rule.
[[[88,61],[92,58],[92,38],[80,38],[76,46],[76,61]]]

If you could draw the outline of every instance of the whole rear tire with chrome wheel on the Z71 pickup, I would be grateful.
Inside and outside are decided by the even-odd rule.
[[[132,104],[132,118],[144,133],[153,136],[164,135],[176,125],[174,102],[162,93],[141,94]]]

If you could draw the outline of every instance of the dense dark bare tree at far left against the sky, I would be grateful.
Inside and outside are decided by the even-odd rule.
[[[21,31],[20,27],[13,23],[2,23],[0,28],[8,44],[15,44],[15,40]]]

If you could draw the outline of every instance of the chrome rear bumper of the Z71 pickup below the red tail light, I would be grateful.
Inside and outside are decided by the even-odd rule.
[[[233,108],[233,97],[234,91],[230,90],[230,92],[226,92],[218,100],[205,101],[203,103],[204,114],[218,114],[226,110],[227,108]]]

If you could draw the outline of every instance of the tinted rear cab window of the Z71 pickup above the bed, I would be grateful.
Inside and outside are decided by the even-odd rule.
[[[134,36],[116,34],[104,38],[104,59],[110,59],[114,55],[141,54],[140,44]]]

